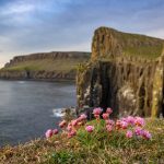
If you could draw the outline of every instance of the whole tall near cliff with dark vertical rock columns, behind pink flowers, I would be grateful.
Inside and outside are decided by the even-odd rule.
[[[79,68],[77,77],[79,106],[112,107],[115,116],[164,115],[162,45],[157,38],[105,27],[96,30],[91,62]],[[147,48],[153,54],[148,56]]]

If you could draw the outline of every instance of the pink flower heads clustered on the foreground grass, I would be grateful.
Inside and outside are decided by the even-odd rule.
[[[144,129],[145,121],[141,117],[133,117],[128,116],[124,117],[121,119],[118,119],[114,121],[110,119],[110,114],[113,113],[112,108],[107,108],[105,113],[103,113],[103,109],[101,107],[94,108],[93,115],[97,120],[97,124],[99,124],[101,116],[104,119],[105,122],[105,129],[107,132],[112,131],[120,131],[124,132],[126,138],[143,138],[143,139],[151,139],[151,133]],[[67,132],[68,138],[72,138],[77,136],[78,130],[83,127],[86,132],[92,133],[95,130],[95,127],[92,125],[86,125],[86,115],[82,114],[79,118],[71,120],[70,122],[67,122],[66,120],[62,120],[59,122],[59,127]],[[48,129],[45,133],[46,138],[49,139],[54,134],[58,133],[58,129]]]

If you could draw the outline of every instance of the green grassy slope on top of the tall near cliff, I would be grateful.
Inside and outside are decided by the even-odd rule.
[[[164,39],[140,34],[122,33],[107,27],[99,27],[99,30],[103,28],[107,31],[107,34],[112,33],[117,39],[117,43],[122,48],[124,55],[148,59],[154,59],[162,55]]]

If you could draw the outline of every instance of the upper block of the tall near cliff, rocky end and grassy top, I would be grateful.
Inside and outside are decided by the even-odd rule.
[[[94,33],[92,58],[127,55],[154,59],[162,55],[163,46],[161,38],[99,27]]]

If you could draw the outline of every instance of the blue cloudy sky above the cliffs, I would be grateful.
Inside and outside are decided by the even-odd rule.
[[[17,55],[91,51],[99,26],[164,38],[164,0],[0,0],[0,67]]]

